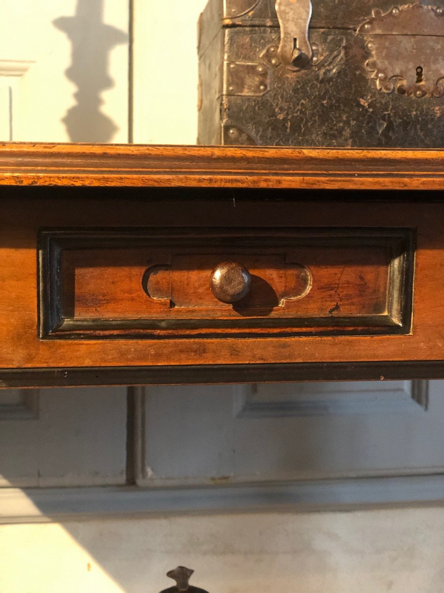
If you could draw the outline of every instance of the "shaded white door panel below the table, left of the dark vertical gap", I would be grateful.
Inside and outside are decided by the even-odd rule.
[[[0,486],[126,483],[126,389],[0,391]]]

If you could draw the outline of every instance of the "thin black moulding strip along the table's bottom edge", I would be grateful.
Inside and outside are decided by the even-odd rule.
[[[444,379],[444,361],[0,369],[0,388]]]

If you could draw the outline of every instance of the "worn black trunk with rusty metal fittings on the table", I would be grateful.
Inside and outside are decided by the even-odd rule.
[[[210,0],[198,143],[442,148],[443,13],[444,0]]]

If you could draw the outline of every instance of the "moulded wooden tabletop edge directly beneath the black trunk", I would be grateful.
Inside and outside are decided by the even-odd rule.
[[[0,144],[0,184],[442,190],[444,151]]]

